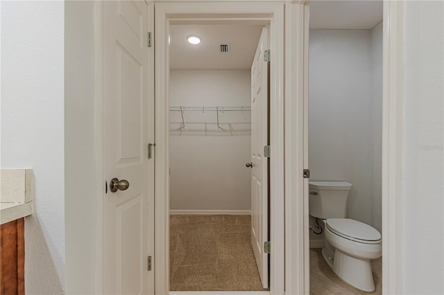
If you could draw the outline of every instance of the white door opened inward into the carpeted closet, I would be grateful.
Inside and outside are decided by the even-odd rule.
[[[255,252],[262,286],[268,288],[268,254],[264,242],[268,240],[268,28],[261,38],[251,66],[251,244]]]

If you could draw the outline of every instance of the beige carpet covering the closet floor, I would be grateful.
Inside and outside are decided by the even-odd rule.
[[[250,216],[170,217],[171,291],[262,291]]]

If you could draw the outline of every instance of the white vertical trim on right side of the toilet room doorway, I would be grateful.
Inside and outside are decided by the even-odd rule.
[[[382,292],[402,293],[404,1],[384,1],[382,98]]]

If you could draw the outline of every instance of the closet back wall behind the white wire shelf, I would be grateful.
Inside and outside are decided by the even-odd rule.
[[[174,70],[170,105],[249,106],[250,88],[249,70]],[[192,120],[199,121],[198,115]],[[245,166],[251,159],[250,124],[223,125],[225,131],[194,124],[174,131],[179,125],[170,126],[170,208],[250,210],[250,169]]]

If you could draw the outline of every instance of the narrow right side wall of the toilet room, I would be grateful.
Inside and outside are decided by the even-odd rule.
[[[372,206],[370,225],[382,233],[382,21],[370,30],[372,99]]]

